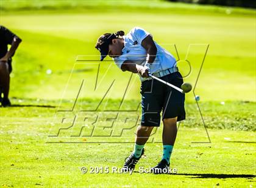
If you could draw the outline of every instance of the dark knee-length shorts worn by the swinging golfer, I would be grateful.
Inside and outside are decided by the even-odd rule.
[[[182,75],[179,72],[160,77],[174,86],[181,87]],[[162,119],[175,118],[177,121],[185,119],[185,94],[178,92],[162,82],[150,79],[141,82],[141,126],[159,127]]]

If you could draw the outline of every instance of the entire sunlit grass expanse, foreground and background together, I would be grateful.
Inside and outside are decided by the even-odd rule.
[[[13,107],[0,109],[0,186],[255,186],[255,10],[165,1],[118,1],[115,7],[113,1],[1,1],[0,7],[0,24],[23,39],[13,57]],[[132,150],[135,129],[126,132],[127,144],[89,144],[96,138],[83,135],[76,138],[80,144],[65,144],[79,127],[57,138],[48,136],[68,127],[79,110],[98,106],[113,81],[99,111],[118,110],[127,86],[122,110],[138,107],[137,75],[130,77],[113,62],[103,62],[94,90],[99,62],[81,61],[99,58],[94,44],[102,33],[127,33],[135,26],[152,33],[158,44],[180,59],[183,75],[188,72],[184,60],[191,62],[192,72],[185,81],[193,86],[209,45],[195,94],[201,96],[199,105],[212,143],[191,143],[208,142],[191,92],[171,161],[178,175],[140,174],[138,168],[132,175],[83,175],[82,166],[121,167]],[[57,110],[73,108],[83,80],[77,105],[67,113],[67,123],[60,124],[66,114]],[[140,108],[133,112],[140,113]],[[121,120],[118,123],[122,127]],[[103,126],[109,123],[99,121]],[[158,141],[161,130],[154,135]],[[46,143],[51,141],[58,144]],[[160,143],[147,144],[139,165],[155,165],[161,153]]]

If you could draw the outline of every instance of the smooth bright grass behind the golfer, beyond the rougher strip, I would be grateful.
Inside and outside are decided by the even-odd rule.
[[[60,6],[62,5],[60,2],[65,1],[57,2]],[[79,2],[77,1],[77,3]],[[91,1],[89,2],[93,4]],[[161,3],[158,2],[158,4]],[[5,1],[2,4],[2,7],[7,7]],[[176,4],[169,6],[171,5],[172,9],[175,9]],[[196,88],[202,99],[255,101],[256,25],[254,10],[251,10],[250,14],[247,11],[242,15],[233,13],[233,9],[226,8],[231,11],[227,15],[224,11],[215,13],[213,8],[213,10],[208,8],[210,13],[201,11],[204,8],[196,10],[191,8],[188,12],[189,6],[187,6],[185,13],[182,10],[172,13],[165,9],[163,13],[158,9],[158,11],[152,10],[151,12],[139,8],[135,9],[135,13],[130,13],[129,8],[126,10],[124,7],[113,11],[108,10],[107,6],[108,11],[103,11],[102,8],[97,10],[98,6],[95,6],[93,10],[82,9],[73,10],[73,12],[69,10],[67,13],[63,8],[60,8],[59,11],[44,9],[30,12],[17,11],[17,13],[16,11],[2,11],[1,24],[8,25],[23,39],[20,49],[13,58],[14,71],[10,95],[59,99],[77,56],[98,55],[94,44],[102,33],[116,32],[121,29],[127,33],[132,27],[140,26],[152,33],[155,41],[163,44],[176,58],[178,57],[174,44],[176,44],[180,60],[185,60],[187,55],[193,70],[191,76],[185,81],[192,84],[195,82],[204,57],[206,45],[209,44],[202,74]],[[188,50],[189,46],[190,50]],[[91,57],[82,56],[82,59],[91,59]],[[98,56],[93,59],[98,59]],[[110,62],[103,63],[102,72],[109,65]],[[178,65],[182,73],[187,74],[187,64],[180,61]],[[84,69],[86,67],[87,65],[84,66]],[[114,73],[108,74],[111,76],[105,78],[104,82],[113,79],[113,75],[129,76],[129,73],[119,72],[118,68],[115,68],[112,70]],[[48,69],[52,70],[51,75],[46,74]],[[84,72],[76,72],[73,80],[77,84],[80,84],[82,78],[93,80],[95,71],[93,69],[86,72],[85,69]],[[16,77],[18,79],[15,79]],[[126,79],[118,80],[115,86],[117,88],[123,86],[126,84],[124,81]],[[21,83],[23,87],[19,87]],[[133,89],[133,98],[140,99],[140,93],[137,92],[139,85],[137,79],[138,87]],[[77,87],[76,84],[73,84],[65,98],[73,98],[73,91]],[[44,95],[41,96],[40,93],[44,93]],[[88,93],[88,96],[95,97],[94,93]],[[116,95],[112,95],[112,97],[120,98]],[[188,99],[190,98],[191,95],[188,95]]]

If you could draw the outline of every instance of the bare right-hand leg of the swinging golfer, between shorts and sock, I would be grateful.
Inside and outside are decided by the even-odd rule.
[[[177,117],[163,119],[163,145],[173,146],[177,135]]]

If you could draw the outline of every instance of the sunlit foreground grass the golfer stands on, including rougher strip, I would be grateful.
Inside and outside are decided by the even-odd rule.
[[[135,172],[127,175],[83,174],[80,167],[122,167],[124,159],[133,149],[132,132],[129,137],[121,136],[121,139],[111,136],[81,136],[76,140],[79,143],[68,144],[65,140],[73,139],[68,135],[48,137],[54,134],[49,129],[57,110],[57,101],[21,100],[14,100],[16,107],[1,109],[1,186],[250,187],[255,184],[255,132],[243,131],[255,129],[255,126],[243,127],[252,124],[255,113],[251,114],[252,119],[244,119],[245,115],[237,114],[236,110],[241,109],[248,114],[255,104],[228,102],[226,106],[220,107],[221,104],[217,102],[203,103],[205,123],[212,142],[209,143],[194,104],[188,103],[188,119],[179,125],[171,159],[171,168],[176,168],[177,174],[139,173],[140,166],[152,167],[160,160],[160,129],[157,130],[157,136],[151,136],[155,141],[146,144],[145,155]],[[118,101],[112,101],[112,104],[115,102]],[[19,107],[18,104],[23,104],[24,107]],[[63,102],[63,106],[69,106],[69,102]],[[215,108],[218,109],[218,115],[213,110]],[[233,121],[232,117],[235,117]],[[238,121],[240,125],[237,124]],[[59,127],[59,124],[54,127],[56,126]],[[99,126],[107,126],[107,121]],[[59,128],[61,127],[63,128]],[[85,132],[82,133],[84,134]],[[131,142],[102,143],[104,140],[113,142],[126,139]],[[52,141],[57,143],[53,144]],[[90,143],[91,141],[98,143]]]

